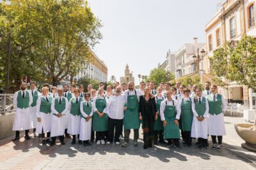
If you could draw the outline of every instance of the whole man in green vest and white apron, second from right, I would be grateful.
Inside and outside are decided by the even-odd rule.
[[[198,138],[199,149],[207,148],[208,138],[208,112],[209,104],[202,96],[202,90],[196,89],[196,96],[192,101],[193,123],[191,128],[191,138]]]

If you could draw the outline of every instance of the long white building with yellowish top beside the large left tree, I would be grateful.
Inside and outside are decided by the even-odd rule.
[[[84,68],[75,76],[75,81],[81,78],[92,78],[99,82],[108,81],[108,67],[92,52],[90,60],[84,61]]]

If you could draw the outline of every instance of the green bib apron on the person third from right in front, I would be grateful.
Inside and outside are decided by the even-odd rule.
[[[180,129],[182,131],[191,131],[193,122],[193,111],[192,111],[192,101],[189,97],[189,101],[181,102],[181,114],[180,114]]]

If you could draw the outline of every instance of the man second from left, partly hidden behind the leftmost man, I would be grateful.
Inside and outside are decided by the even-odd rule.
[[[34,133],[34,137],[36,137],[36,122],[37,122],[37,117],[36,117],[36,101],[38,99],[38,97],[41,96],[40,92],[38,92],[38,90],[36,90],[36,83],[35,81],[31,81],[30,82],[30,90],[29,92],[31,92],[32,97],[33,97],[33,103],[31,104],[30,107],[30,122],[31,122],[31,127],[30,129],[33,129],[33,133]]]

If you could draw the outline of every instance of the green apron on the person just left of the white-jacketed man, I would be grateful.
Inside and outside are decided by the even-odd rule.
[[[104,99],[99,99],[99,97],[96,99],[96,108],[97,110],[102,113],[104,108],[106,108],[107,102],[104,97]],[[104,132],[108,131],[108,115],[105,113],[103,117],[99,117],[98,113],[93,113],[93,131],[96,132]]]

